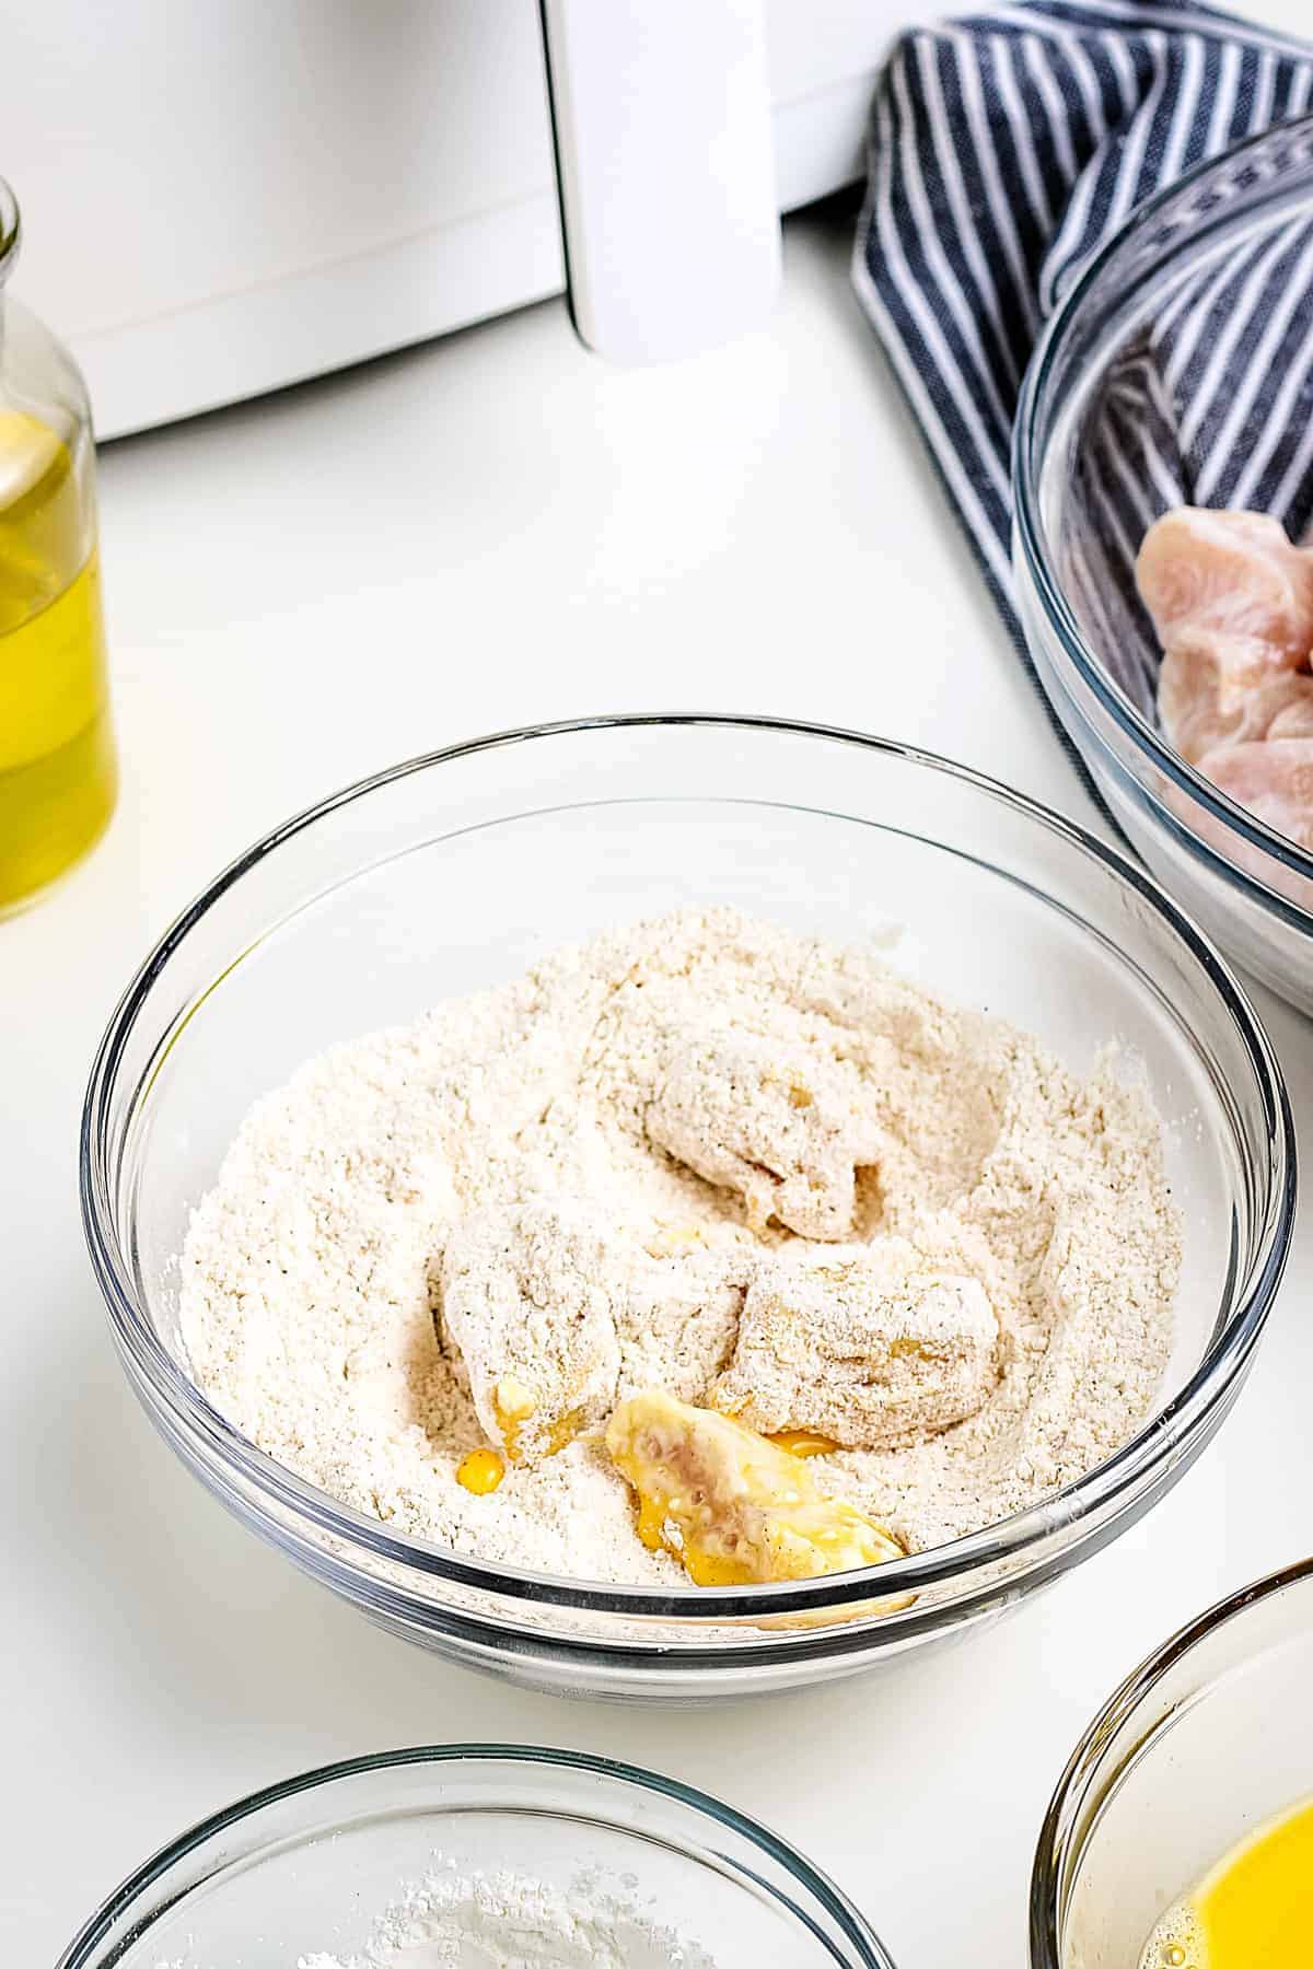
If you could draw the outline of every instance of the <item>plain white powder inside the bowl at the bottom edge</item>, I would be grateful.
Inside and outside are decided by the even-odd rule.
[[[297,1969],[715,1969],[638,1902],[581,1873],[549,1886],[516,1873],[433,1873],[374,1924],[364,1957]]]

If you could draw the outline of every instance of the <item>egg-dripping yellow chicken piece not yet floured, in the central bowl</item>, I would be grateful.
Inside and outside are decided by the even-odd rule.
[[[638,1493],[638,1536],[681,1559],[699,1587],[819,1579],[902,1557],[852,1504],[754,1429],[652,1390],[622,1402],[606,1449]]]

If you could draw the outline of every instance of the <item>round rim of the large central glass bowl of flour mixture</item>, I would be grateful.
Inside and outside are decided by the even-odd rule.
[[[819,1579],[793,1581],[782,1585],[752,1585],[734,1589],[711,1587],[663,1587],[654,1591],[640,1585],[608,1585],[585,1579],[567,1579],[555,1573],[533,1573],[520,1567],[492,1565],[472,1556],[449,1552],[433,1542],[390,1532],[382,1522],[366,1518],[331,1498],[315,1485],[285,1469],[266,1451],[240,1435],[215,1410],[201,1390],[183,1374],[167,1349],[159,1343],[154,1325],[144,1311],[138,1311],[130,1278],[120,1260],[114,1231],[114,1211],[104,1181],[104,1120],[116,1081],[120,1055],[128,1044],[134,1022],[148,1002],[152,986],[165,969],[173,951],[183,943],[199,920],[224,896],[240,878],[281,843],[299,835],[317,821],[327,819],[398,780],[433,770],[457,758],[524,744],[539,738],[581,736],[585,732],[610,730],[663,730],[663,729],[715,729],[730,732],[752,732],[766,736],[799,736],[852,746],[915,768],[943,774],[963,786],[984,794],[988,799],[1022,815],[1028,823],[1039,825],[1081,853],[1093,857],[1108,868],[1124,886],[1165,920],[1167,929],[1185,943],[1191,957],[1205,971],[1211,986],[1219,994],[1234,1032],[1238,1034],[1258,1095],[1262,1099],[1268,1144],[1272,1150],[1272,1174],[1258,1217],[1258,1250],[1250,1268],[1252,1284],[1240,1303],[1226,1319],[1220,1333],[1211,1341],[1199,1365],[1167,1402],[1110,1457],[1087,1471],[1077,1483],[1067,1485],[1053,1496],[1041,1498],[1024,1512],[1000,1524],[986,1526],[967,1538],[935,1546],[902,1559],[888,1559],[878,1567],[864,1567],[850,1573],[833,1573]],[[1059,904],[1043,892],[1047,908]],[[185,1016],[185,1014],[183,1014]],[[136,1099],[136,1097],[134,1097]],[[459,740],[435,752],[423,752],[396,766],[388,766],[364,780],[341,788],[301,813],[283,821],[260,837],[246,853],[238,855],[222,868],[213,882],[175,918],[156,943],[154,951],[130,979],[118,1006],[110,1014],[108,1026],[96,1049],[87,1095],[83,1103],[81,1142],[79,1142],[79,1191],[83,1233],[91,1252],[93,1272],[104,1296],[114,1337],[124,1351],[134,1376],[146,1384],[154,1400],[161,1400],[189,1439],[201,1439],[219,1461],[236,1469],[266,1500],[281,1504],[295,1520],[309,1520],[315,1528],[333,1534],[348,1548],[364,1546],[372,1556],[407,1571],[421,1571],[445,1583],[472,1587],[490,1593],[494,1601],[545,1603],[579,1613],[624,1615],[630,1619],[683,1620],[695,1619],[699,1630],[717,1620],[750,1619],[764,1615],[803,1613],[829,1607],[844,1607],[852,1601],[894,1599],[904,1593],[915,1595],[945,1579],[965,1579],[976,1567],[994,1565],[1018,1554],[1037,1557],[1045,1540],[1055,1530],[1069,1528],[1089,1518],[1102,1506],[1134,1496],[1146,1481],[1165,1461],[1187,1445],[1211,1412],[1226,1400],[1236,1374],[1248,1361],[1272,1300],[1285,1268],[1295,1221],[1295,1126],[1285,1091],[1282,1065],[1272,1042],[1254,1012],[1240,983],[1232,977],[1217,945],[1177,908],[1171,896],[1120,849],[1100,841],[1077,821],[1065,819],[1026,794],[1018,794],[998,780],[941,758],[917,746],[906,746],[892,738],[844,730],[835,725],[809,725],[791,719],[764,715],[715,715],[715,713],[618,713],[589,719],[563,719],[549,725],[526,725],[484,736]],[[915,1620],[915,1615],[913,1615]],[[933,1609],[921,1615],[933,1620]],[[904,1626],[904,1630],[909,1630]],[[860,1636],[858,1636],[860,1638]],[[569,1634],[553,1634],[557,1644],[569,1644]],[[825,1652],[835,1646],[835,1634],[791,1636],[799,1648]],[[608,1642],[591,1638],[591,1646],[608,1648]],[[687,1662],[689,1648],[665,1648],[677,1660]],[[717,1650],[719,1652],[719,1650]]]

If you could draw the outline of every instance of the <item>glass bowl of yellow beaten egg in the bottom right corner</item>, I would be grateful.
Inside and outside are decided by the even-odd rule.
[[[1032,1969],[1258,1969],[1313,1936],[1313,1561],[1220,1601],[1094,1717],[1049,1806]]]

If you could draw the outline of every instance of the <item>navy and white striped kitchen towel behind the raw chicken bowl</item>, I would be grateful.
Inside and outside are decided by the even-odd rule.
[[[1189,0],[1022,0],[894,45],[854,284],[1028,667],[1010,443],[1043,319],[1134,205],[1311,106],[1311,45]],[[1167,506],[1254,506],[1303,536],[1313,222],[1173,297],[1124,350],[1094,435],[1091,498],[1120,565],[1093,587],[1106,581],[1120,606],[1138,608],[1134,553]],[[1152,707],[1154,677],[1120,681]]]

